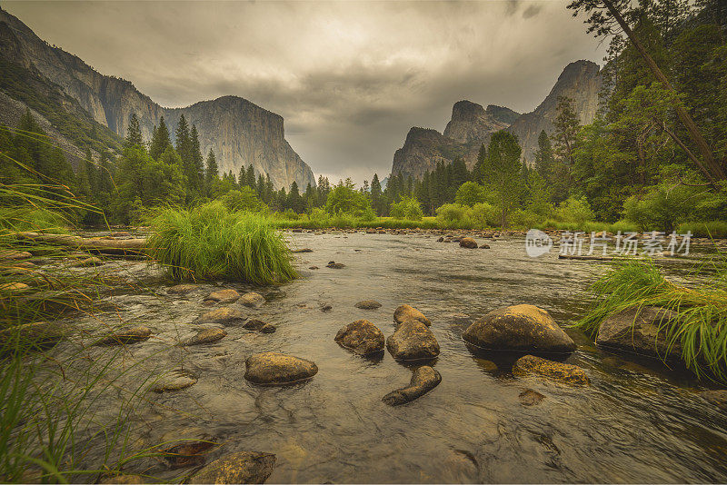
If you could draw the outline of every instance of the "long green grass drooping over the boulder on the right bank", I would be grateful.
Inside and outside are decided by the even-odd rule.
[[[653,262],[617,261],[593,284],[596,300],[575,326],[594,335],[609,315],[661,307],[676,318],[660,323],[668,349],[680,343],[682,361],[698,377],[727,381],[727,264],[710,262],[692,272],[689,287],[668,280]],[[656,343],[654,341],[654,343]]]

